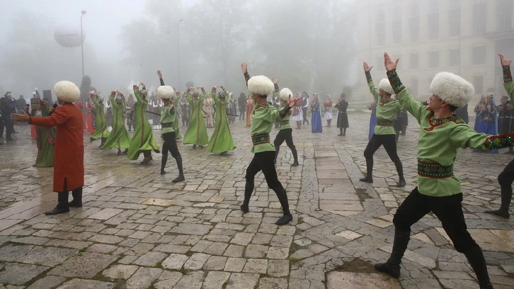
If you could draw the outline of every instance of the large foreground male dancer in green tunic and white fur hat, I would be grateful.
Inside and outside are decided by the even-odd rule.
[[[378,271],[398,278],[401,258],[409,244],[411,226],[430,211],[442,223],[442,228],[471,264],[480,288],[493,288],[489,280],[484,254],[467,232],[462,212],[462,188],[453,174],[457,149],[499,149],[513,146],[513,133],[492,136],[476,132],[453,115],[474,95],[473,85],[450,72],[435,75],[430,84],[430,105],[416,101],[405,89],[396,73],[399,60],[384,53],[387,77],[401,107],[406,108],[421,125],[418,140],[418,186],[394,214],[394,244],[386,263],[377,263]]]

